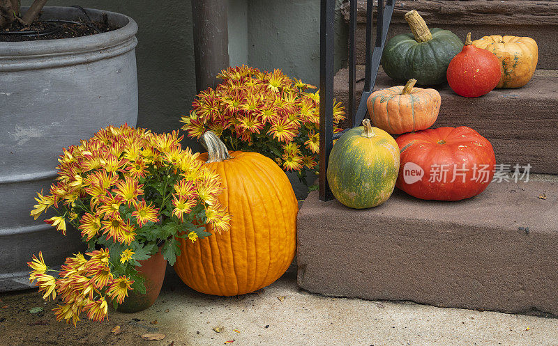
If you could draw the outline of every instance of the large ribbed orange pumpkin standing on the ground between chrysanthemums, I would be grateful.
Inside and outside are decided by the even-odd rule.
[[[199,158],[223,179],[219,202],[228,207],[231,228],[194,243],[181,239],[174,270],[186,285],[206,294],[259,290],[282,276],[294,258],[299,205],[292,185],[268,157],[227,153],[213,132],[203,139],[208,153]]]

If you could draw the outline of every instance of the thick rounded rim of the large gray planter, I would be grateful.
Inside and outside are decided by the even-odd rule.
[[[24,9],[26,8],[22,8]],[[134,19],[105,10],[91,8],[85,10],[93,20],[101,20],[103,14],[106,14],[109,22],[121,28],[77,38],[0,42],[0,72],[89,63],[124,54],[135,48],[137,24]],[[81,10],[77,8],[47,6],[43,8],[41,18],[72,20],[77,17],[84,17]]]

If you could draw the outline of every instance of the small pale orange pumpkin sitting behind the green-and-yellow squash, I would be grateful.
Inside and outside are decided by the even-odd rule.
[[[405,86],[375,91],[366,105],[375,127],[390,134],[428,129],[438,118],[442,98],[434,89],[413,88],[416,79]]]

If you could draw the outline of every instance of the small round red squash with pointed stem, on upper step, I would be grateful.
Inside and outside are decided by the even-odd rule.
[[[461,96],[486,95],[498,85],[500,68],[497,56],[475,47],[468,33],[462,51],[448,65],[448,84]]]

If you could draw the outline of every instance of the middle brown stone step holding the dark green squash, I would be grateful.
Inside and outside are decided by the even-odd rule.
[[[357,66],[356,99],[360,102],[364,68]],[[347,104],[348,69],[335,74],[334,97]],[[375,90],[403,85],[380,68]],[[558,174],[558,71],[536,70],[523,88],[495,89],[482,97],[461,97],[447,84],[438,119],[432,127],[469,126],[494,147],[498,164],[531,164],[531,172]],[[342,127],[347,125],[342,124]]]

